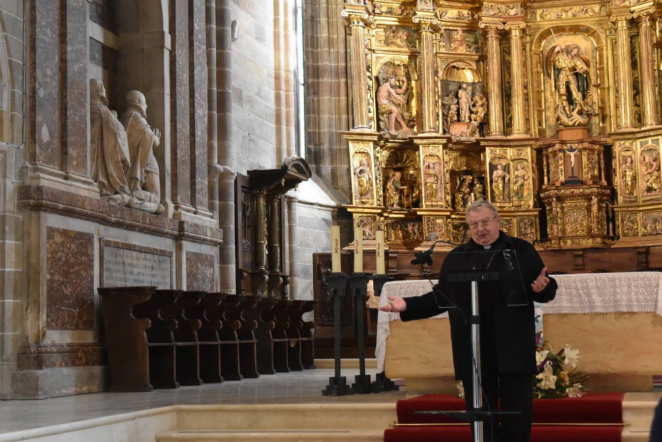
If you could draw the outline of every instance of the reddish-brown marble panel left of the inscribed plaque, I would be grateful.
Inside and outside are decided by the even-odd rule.
[[[46,228],[46,327],[94,328],[94,235]]]

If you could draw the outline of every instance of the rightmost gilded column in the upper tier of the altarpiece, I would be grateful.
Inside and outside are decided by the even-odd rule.
[[[655,73],[653,73],[653,32],[655,8],[646,8],[632,14],[639,25],[639,84],[641,85],[641,126],[659,126],[655,100]]]

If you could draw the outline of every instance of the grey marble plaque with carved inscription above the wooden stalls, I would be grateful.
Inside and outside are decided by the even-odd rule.
[[[171,288],[171,257],[103,247],[103,287],[154,285]]]

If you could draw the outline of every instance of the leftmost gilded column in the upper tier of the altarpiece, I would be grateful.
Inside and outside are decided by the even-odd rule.
[[[354,91],[354,130],[370,130],[368,121],[368,84],[365,77],[365,24],[371,23],[365,5],[346,4],[342,17],[352,28],[352,90]]]

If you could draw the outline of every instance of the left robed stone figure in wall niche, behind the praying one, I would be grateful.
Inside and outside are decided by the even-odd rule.
[[[117,112],[108,109],[103,83],[89,81],[89,120],[92,179],[99,185],[99,193],[118,206],[135,207],[124,175],[130,167],[126,132],[117,119]]]

